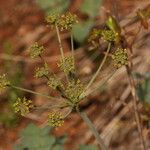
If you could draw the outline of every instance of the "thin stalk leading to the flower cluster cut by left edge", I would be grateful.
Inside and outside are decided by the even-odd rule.
[[[10,87],[12,87],[14,89],[21,90],[21,91],[25,91],[25,92],[28,92],[28,93],[32,93],[32,94],[35,94],[35,95],[39,95],[39,96],[42,96],[42,97],[46,97],[48,99],[56,99],[56,100],[58,100],[58,98],[55,98],[55,97],[52,97],[52,96],[48,96],[46,94],[38,93],[38,92],[35,92],[35,91],[32,91],[32,90],[28,90],[28,89],[25,89],[25,88],[22,88],[22,87],[18,87],[18,86],[15,86],[15,85],[10,85]]]

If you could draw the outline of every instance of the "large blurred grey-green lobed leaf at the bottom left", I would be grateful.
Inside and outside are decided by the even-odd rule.
[[[22,142],[14,146],[14,150],[50,150],[55,144],[55,137],[49,136],[50,127],[39,128],[29,124],[20,133]]]

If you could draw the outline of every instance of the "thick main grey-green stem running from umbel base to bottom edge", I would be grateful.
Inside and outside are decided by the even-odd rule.
[[[101,150],[108,150],[108,148],[106,147],[103,139],[100,137],[98,131],[94,127],[94,125],[91,122],[91,120],[88,118],[87,114],[85,112],[81,112],[79,110],[79,108],[77,108],[77,112],[81,116],[81,118],[83,119],[83,121],[88,125],[88,127],[90,128],[90,130],[92,131],[93,135],[95,136],[97,142],[99,143],[99,145],[101,147]]]

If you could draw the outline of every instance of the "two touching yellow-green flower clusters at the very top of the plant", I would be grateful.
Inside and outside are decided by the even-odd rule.
[[[70,31],[72,26],[77,23],[77,16],[71,14],[70,12],[59,15],[59,14],[50,14],[46,17],[46,22],[52,27],[57,25],[61,31]]]

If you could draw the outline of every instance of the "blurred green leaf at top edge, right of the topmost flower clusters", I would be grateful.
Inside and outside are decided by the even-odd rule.
[[[89,17],[94,18],[98,14],[101,2],[102,0],[84,0],[80,10]]]

